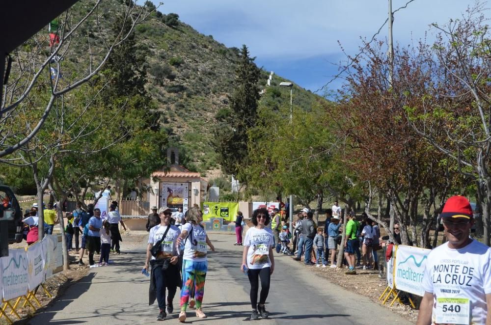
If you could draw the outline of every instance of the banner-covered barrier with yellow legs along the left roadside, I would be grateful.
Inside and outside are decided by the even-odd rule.
[[[41,287],[51,297],[43,283],[62,269],[63,254],[59,235],[46,235],[42,241],[27,248],[9,249],[8,256],[0,258],[0,318],[5,317],[10,324],[12,315],[20,319],[17,308],[23,300],[22,307],[29,305],[36,310],[34,303],[41,307],[35,296],[37,290]]]

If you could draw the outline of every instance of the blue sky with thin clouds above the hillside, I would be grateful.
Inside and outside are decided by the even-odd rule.
[[[395,10],[409,0],[393,0]],[[155,4],[158,1],[153,0]],[[394,41],[407,45],[425,37],[432,23],[459,18],[474,0],[414,0],[394,16]],[[227,47],[246,44],[256,64],[315,91],[345,59],[338,41],[356,54],[361,38],[371,38],[388,14],[387,0],[166,0],[159,8]],[[383,27],[379,38],[387,37]],[[330,89],[340,87],[332,82]]]

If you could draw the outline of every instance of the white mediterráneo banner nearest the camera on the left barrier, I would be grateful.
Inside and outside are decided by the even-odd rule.
[[[8,255],[1,258],[3,298],[10,300],[27,295],[28,263],[26,250],[9,249]]]

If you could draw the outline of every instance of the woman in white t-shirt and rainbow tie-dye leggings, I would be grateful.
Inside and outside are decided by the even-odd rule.
[[[199,208],[192,207],[188,211],[188,221],[181,227],[181,235],[177,239],[177,245],[184,241],[184,255],[182,266],[183,285],[181,289],[181,312],[179,322],[186,321],[186,309],[194,288],[196,300],[196,317],[206,318],[201,310],[201,302],[205,290],[206,271],[208,271],[207,245],[212,251],[215,247],[208,239],[206,230],[200,224],[203,217]]]

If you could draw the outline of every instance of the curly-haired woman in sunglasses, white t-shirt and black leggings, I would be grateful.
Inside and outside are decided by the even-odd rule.
[[[252,305],[251,320],[268,317],[264,304],[270,291],[271,274],[274,270],[273,246],[274,236],[266,226],[271,221],[268,210],[257,209],[252,214],[255,227],[249,228],[244,239],[241,270],[247,272],[250,282],[250,303]],[[261,294],[257,303],[257,292],[261,280]]]

